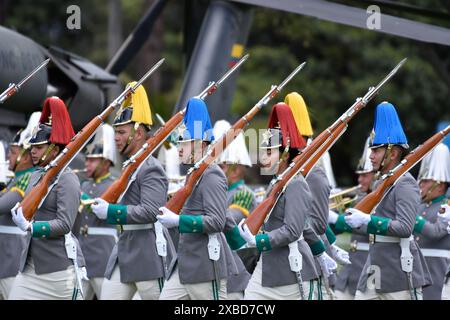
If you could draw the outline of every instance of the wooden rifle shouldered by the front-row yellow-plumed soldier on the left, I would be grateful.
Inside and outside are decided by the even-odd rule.
[[[217,82],[212,81],[209,85],[197,96],[204,100],[207,96],[212,95],[217,88],[248,59],[248,54],[243,56],[233,67],[231,67]],[[123,194],[130,187],[133,178],[139,171],[140,166],[144,163],[150,155],[159,148],[159,146],[167,139],[173,130],[175,130],[183,121],[186,107],[183,110],[177,112],[172,118],[170,118],[162,127],[150,137],[144,145],[124,162],[122,166],[122,173],[120,177],[114,181],[108,189],[101,195],[100,198],[108,203],[117,203],[122,198]]]

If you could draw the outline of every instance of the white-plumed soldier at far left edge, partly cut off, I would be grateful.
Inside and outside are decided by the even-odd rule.
[[[30,145],[33,128],[39,123],[41,113],[35,112],[30,116],[28,125],[19,130],[9,144],[7,169],[14,172],[14,178],[0,193],[0,300],[8,299],[14,278],[19,272],[20,253],[22,251],[22,237],[26,232],[20,230],[12,221],[11,209],[22,200],[24,192],[33,172]]]

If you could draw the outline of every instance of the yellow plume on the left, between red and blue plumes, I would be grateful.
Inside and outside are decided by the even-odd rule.
[[[130,82],[128,86],[134,86],[136,81]],[[140,122],[145,125],[152,125],[152,111],[150,108],[150,102],[147,98],[147,93],[142,85],[132,93],[122,105],[123,108],[133,108],[133,115],[131,121]]]

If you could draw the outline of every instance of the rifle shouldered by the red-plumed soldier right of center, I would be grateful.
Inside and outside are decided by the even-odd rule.
[[[400,61],[397,66],[376,86],[370,87],[362,98],[357,98],[355,103],[342,114],[330,127],[317,136],[312,143],[307,146],[298,156],[296,156],[289,167],[286,168],[276,179],[272,180],[269,187],[272,187],[266,198],[247,217],[245,224],[253,234],[257,234],[261,226],[267,221],[278,199],[284,193],[289,182],[300,171],[303,176],[309,173],[320,157],[329,150],[339,137],[347,129],[350,120],[378,93],[381,87],[391,79],[398,69],[405,63],[406,58]]]

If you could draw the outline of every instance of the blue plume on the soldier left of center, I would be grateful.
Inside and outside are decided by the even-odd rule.
[[[195,139],[209,142],[214,141],[208,108],[202,99],[189,99],[183,122],[186,126],[186,130],[182,134],[182,140]]]

